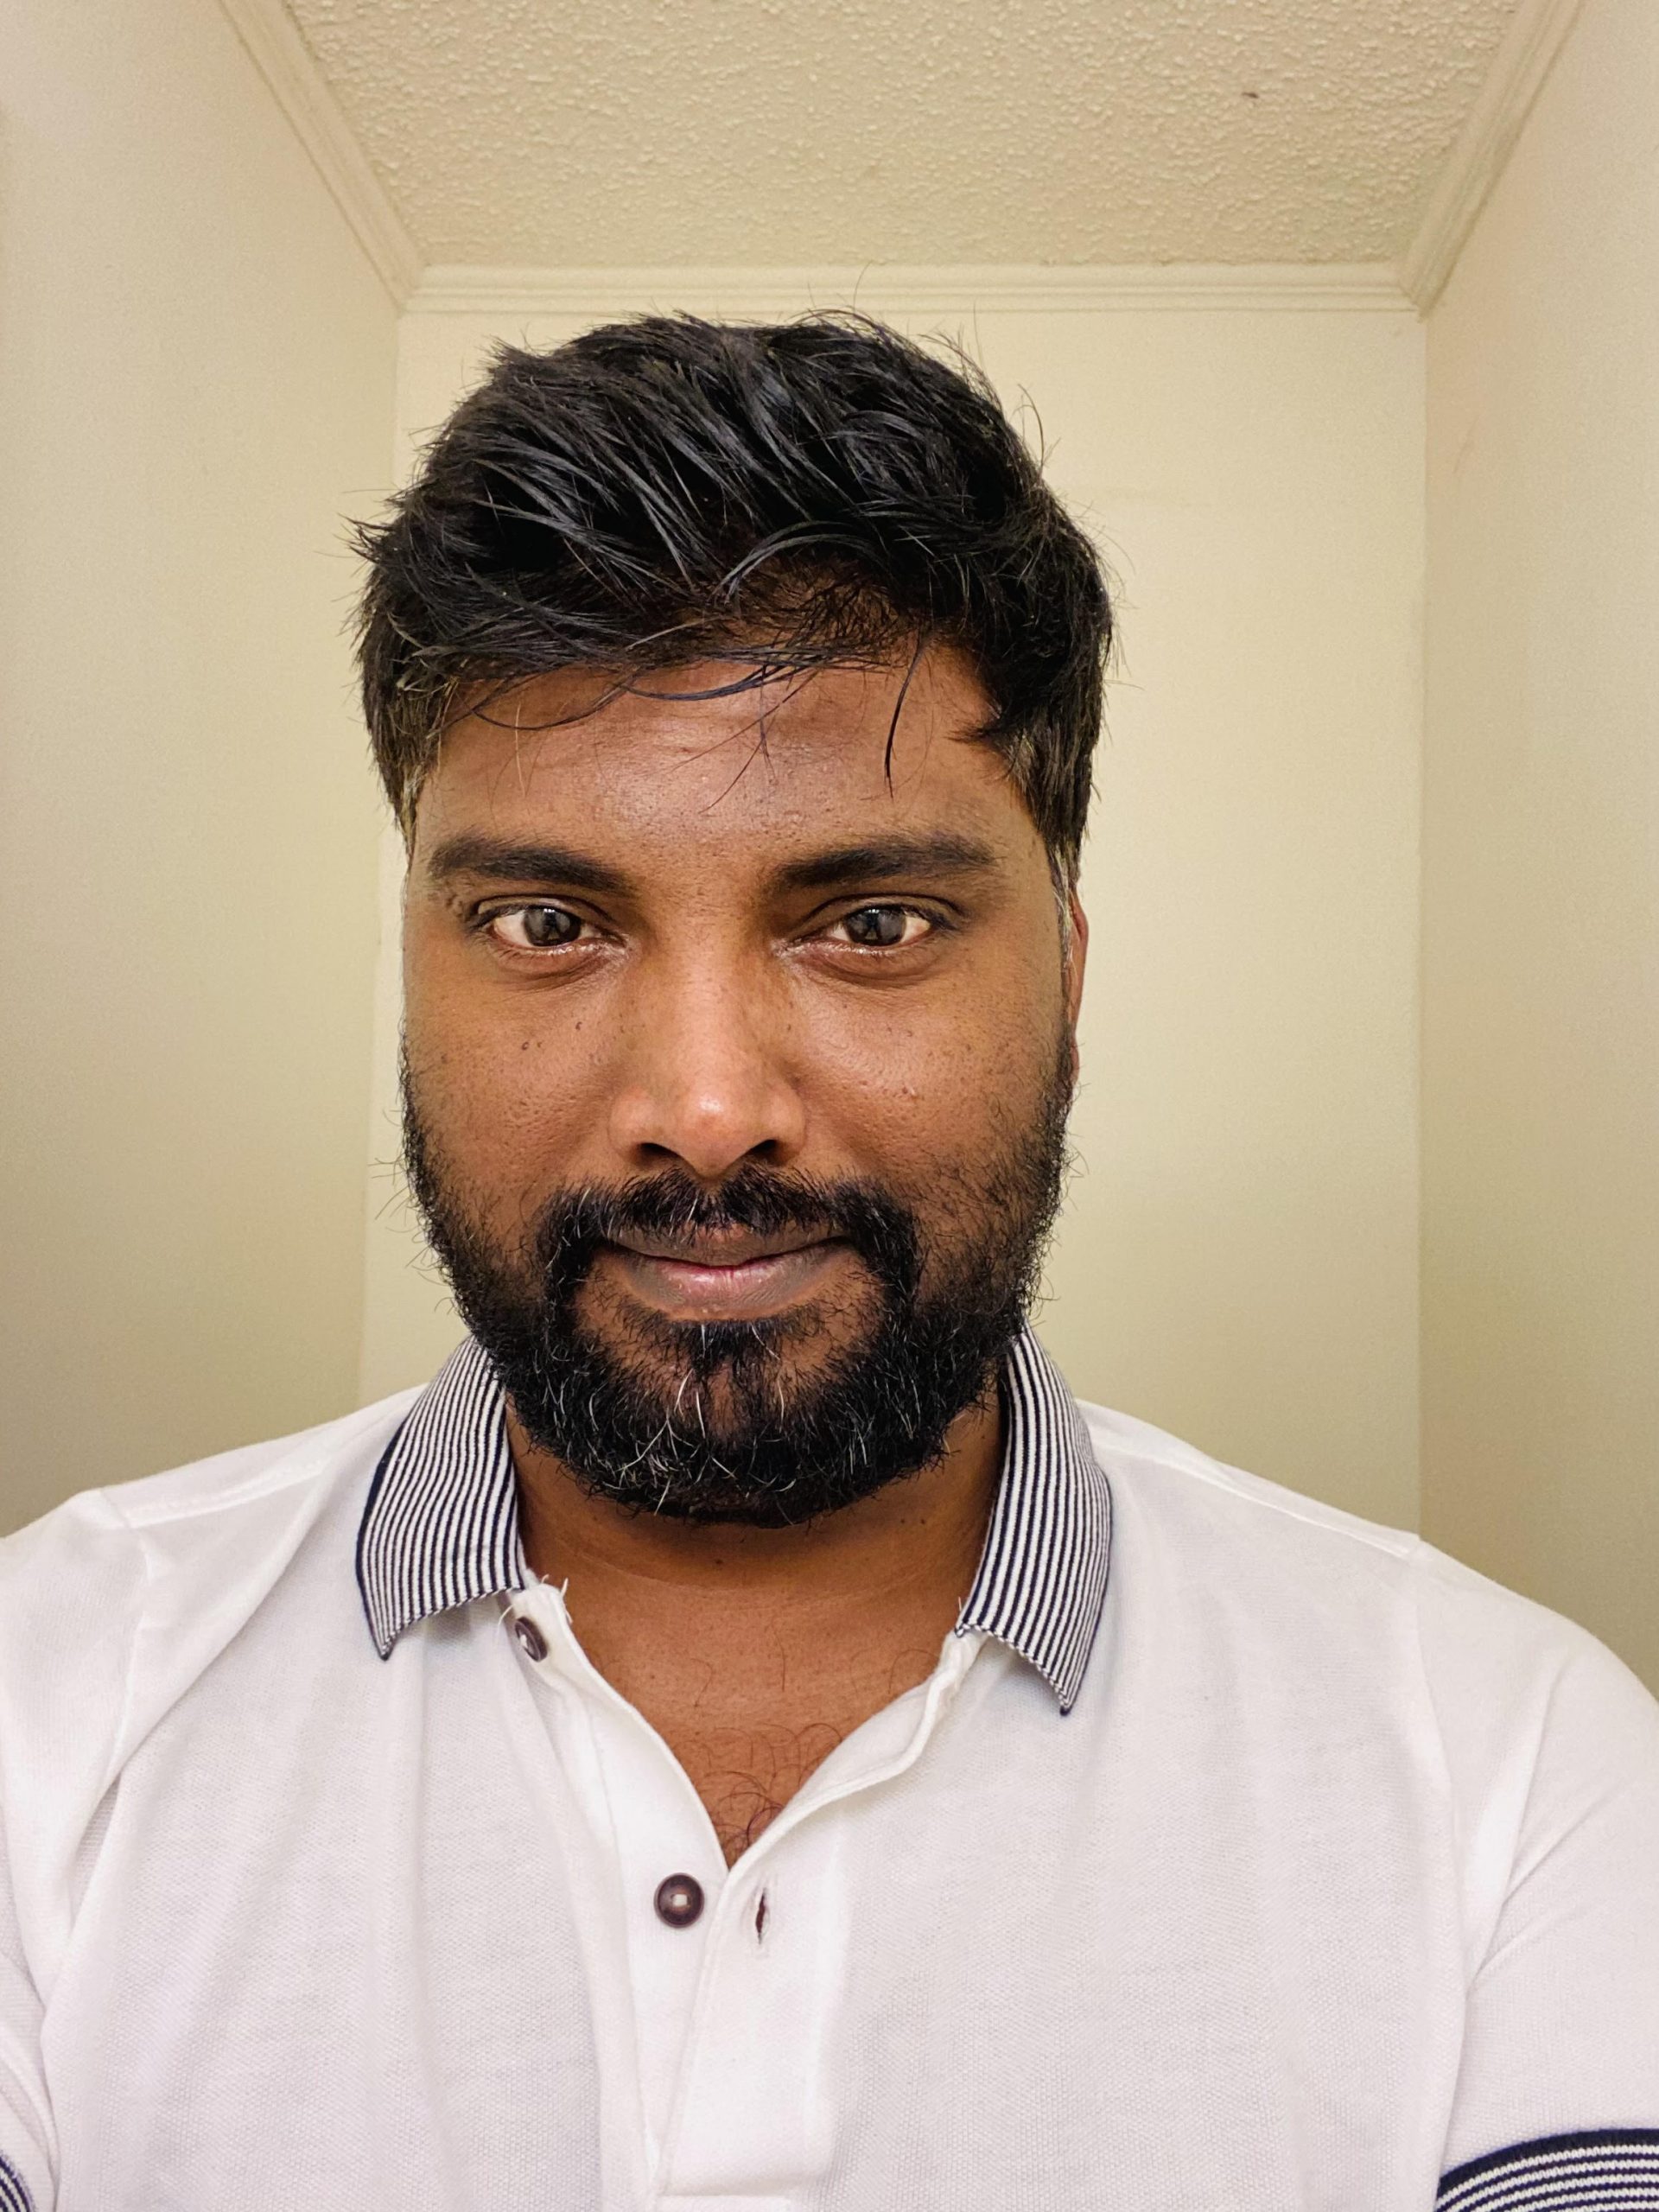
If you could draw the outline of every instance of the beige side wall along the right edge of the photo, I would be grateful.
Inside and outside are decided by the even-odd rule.
[[[1659,1688],[1659,9],[1429,323],[1425,1531]]]

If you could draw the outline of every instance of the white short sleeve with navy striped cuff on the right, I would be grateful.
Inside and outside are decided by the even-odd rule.
[[[1659,1705],[1546,1619],[1557,1644],[1469,1978],[1442,2212],[1659,2208]]]

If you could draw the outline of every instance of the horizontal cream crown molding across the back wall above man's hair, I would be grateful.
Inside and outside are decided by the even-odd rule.
[[[469,268],[434,265],[409,314],[604,319],[646,307],[772,316],[805,307],[872,314],[1099,314],[1110,310],[1338,310],[1411,314],[1389,263],[1181,268]]]

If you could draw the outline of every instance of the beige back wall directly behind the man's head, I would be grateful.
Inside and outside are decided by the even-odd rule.
[[[407,316],[405,445],[489,338],[573,327]],[[1035,403],[1121,580],[1086,872],[1084,1172],[1044,1334],[1084,1394],[1409,1524],[1420,325],[982,312],[971,336]],[[389,918],[394,891],[392,852]],[[394,1040],[389,933],[365,1396],[453,1340],[389,1172]]]

